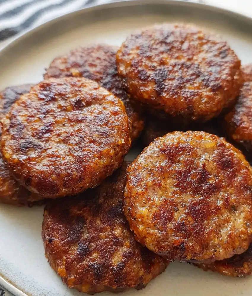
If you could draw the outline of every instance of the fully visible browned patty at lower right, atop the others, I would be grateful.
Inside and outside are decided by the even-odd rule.
[[[224,138],[155,139],[128,168],[125,215],[136,239],[172,260],[213,262],[251,242],[252,169]]]

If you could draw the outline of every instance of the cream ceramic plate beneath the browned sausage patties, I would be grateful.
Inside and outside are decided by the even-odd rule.
[[[0,89],[42,80],[44,68],[59,54],[79,45],[120,45],[136,28],[161,22],[190,22],[221,34],[242,62],[252,62],[252,20],[232,12],[180,1],[125,1],[83,9],[52,20],[17,38],[0,52]],[[134,159],[137,148],[127,158]],[[0,205],[0,285],[16,296],[69,296],[44,257],[43,207]],[[102,293],[101,295],[111,295]],[[172,263],[141,291],[125,296],[251,296],[252,276],[245,279]]]

